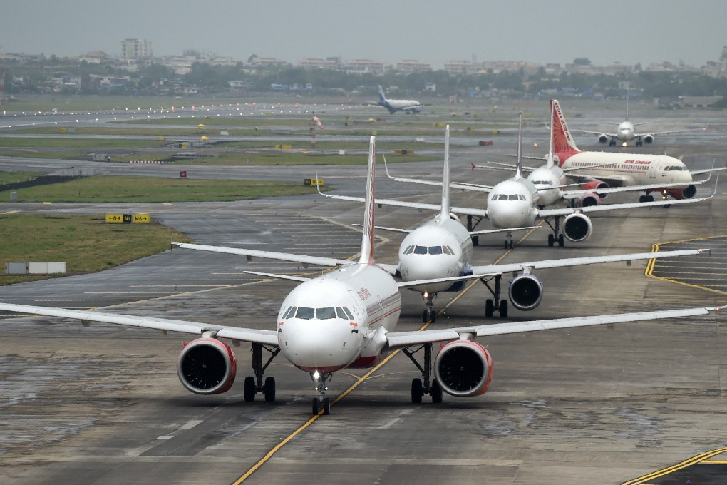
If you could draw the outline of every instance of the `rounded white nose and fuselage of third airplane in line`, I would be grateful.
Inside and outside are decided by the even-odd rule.
[[[495,228],[524,228],[538,215],[539,193],[530,180],[520,177],[498,183],[487,197],[487,217]]]

